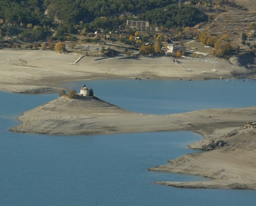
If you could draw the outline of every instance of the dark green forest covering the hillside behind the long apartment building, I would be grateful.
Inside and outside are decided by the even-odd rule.
[[[195,6],[179,8],[175,0],[1,0],[0,39],[63,41],[67,33],[86,35],[125,27],[127,19],[147,20],[166,29],[207,20]]]

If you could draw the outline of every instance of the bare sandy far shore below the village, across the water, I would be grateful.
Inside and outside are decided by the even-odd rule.
[[[183,57],[179,64],[171,57],[125,56],[101,59],[72,52],[58,54],[44,50],[0,50],[0,90],[20,93],[60,91],[65,82],[113,78],[205,80],[243,77],[255,78],[254,71],[214,57]],[[233,61],[236,62],[236,61]],[[215,66],[214,66],[215,64]],[[184,70],[184,68],[190,71]],[[217,71],[212,71],[216,69]]]

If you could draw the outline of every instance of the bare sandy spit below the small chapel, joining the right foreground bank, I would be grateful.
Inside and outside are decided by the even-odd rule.
[[[129,112],[97,98],[63,96],[24,112],[19,133],[95,135],[191,130],[205,140],[189,145],[210,152],[188,154],[150,171],[209,177],[202,182],[156,182],[180,188],[256,189],[256,107],[198,110],[184,114],[148,115]]]

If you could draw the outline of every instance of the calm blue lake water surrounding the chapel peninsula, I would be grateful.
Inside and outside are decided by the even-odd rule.
[[[205,108],[254,106],[253,80],[99,80],[72,82],[134,112],[172,114]],[[58,94],[0,92],[0,205],[254,205],[256,191],[180,189],[157,180],[205,180],[148,172],[192,151],[202,139],[188,131],[120,135],[56,136],[11,133],[22,112]]]

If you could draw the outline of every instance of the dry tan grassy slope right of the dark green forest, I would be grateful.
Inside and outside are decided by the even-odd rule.
[[[216,1],[213,2],[215,3]],[[256,1],[235,0],[234,2],[236,6],[221,5],[219,9],[201,6],[200,10],[204,11],[204,13],[216,17],[212,22],[204,24],[201,30],[205,29],[217,36],[228,34],[232,45],[239,45],[246,52],[250,50],[250,47],[241,44],[241,34],[245,33],[248,35],[252,31],[249,26],[255,22]],[[256,44],[256,38],[250,38],[249,42],[251,45]]]

